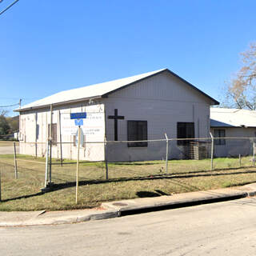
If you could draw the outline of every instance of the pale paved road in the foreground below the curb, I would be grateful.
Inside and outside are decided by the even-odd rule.
[[[256,198],[59,226],[0,228],[2,255],[254,255]]]

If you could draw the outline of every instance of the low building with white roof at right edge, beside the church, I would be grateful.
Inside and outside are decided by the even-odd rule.
[[[218,138],[214,140],[216,157],[252,154],[256,137],[256,111],[212,107],[210,130],[213,136]]]

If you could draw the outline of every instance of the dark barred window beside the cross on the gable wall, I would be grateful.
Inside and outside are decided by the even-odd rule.
[[[147,140],[147,121],[127,121],[128,141],[146,141]],[[129,147],[147,146],[147,142],[130,142]]]

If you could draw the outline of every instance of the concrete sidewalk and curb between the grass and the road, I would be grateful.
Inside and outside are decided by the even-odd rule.
[[[0,212],[0,226],[34,226],[86,222],[104,218],[116,218],[149,210],[178,208],[209,202],[256,195],[256,183],[219,190],[198,191],[154,198],[135,198],[116,202],[104,202],[101,207],[89,210],[65,210],[46,212]]]

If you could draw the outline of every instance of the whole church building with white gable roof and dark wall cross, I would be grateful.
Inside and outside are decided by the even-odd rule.
[[[46,153],[40,142],[50,136],[50,105],[53,157],[76,158],[77,128],[70,113],[87,113],[83,142],[103,142],[105,135],[107,141],[144,141],[165,138],[165,133],[169,138],[205,138],[210,136],[210,106],[217,104],[168,69],[66,90],[16,110],[20,112],[20,153]],[[70,144],[61,146],[57,141]],[[171,158],[186,157],[186,142],[171,144]],[[83,143],[80,152],[81,159],[105,158],[103,143]],[[106,152],[112,162],[162,159],[166,143],[107,143]]]

